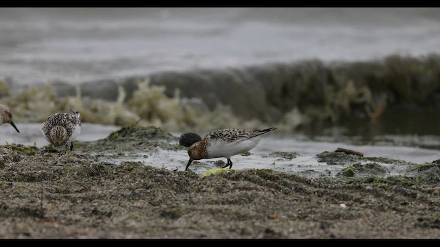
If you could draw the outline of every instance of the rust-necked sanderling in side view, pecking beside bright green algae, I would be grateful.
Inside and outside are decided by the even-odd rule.
[[[228,163],[232,167],[231,156],[249,151],[256,146],[263,137],[263,134],[275,130],[276,128],[267,128],[265,130],[238,130],[225,129],[217,130],[206,134],[201,141],[193,143],[188,149],[190,160],[186,165],[185,171],[194,160],[203,158],[228,158]]]

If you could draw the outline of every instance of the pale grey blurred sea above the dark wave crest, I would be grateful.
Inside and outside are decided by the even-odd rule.
[[[0,75],[68,84],[440,51],[438,8],[0,8]]]

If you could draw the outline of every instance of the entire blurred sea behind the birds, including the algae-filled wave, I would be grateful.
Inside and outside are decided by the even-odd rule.
[[[0,8],[0,102],[22,132],[0,141],[44,145],[41,122],[73,107],[79,140],[278,126],[438,152],[439,54],[440,8]]]

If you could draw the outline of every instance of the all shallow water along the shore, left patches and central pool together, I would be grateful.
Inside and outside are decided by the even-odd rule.
[[[47,141],[41,134],[40,124],[20,124],[17,126],[20,133],[15,132],[11,127],[3,125],[0,131],[3,133],[1,141],[4,143],[16,143],[23,145],[36,145],[42,148],[47,145]],[[83,124],[81,134],[78,136],[78,141],[96,141],[104,139],[111,132],[119,130],[118,126],[102,126],[99,124]],[[180,133],[173,133],[176,137],[176,143]],[[440,158],[440,150],[434,148],[418,148],[417,143],[430,143],[430,145],[438,146],[440,139],[437,137],[414,137],[414,136],[386,136],[384,137],[388,142],[377,141],[371,144],[354,144],[358,142],[354,138],[347,137],[346,139],[336,141],[332,137],[316,137],[314,140],[309,139],[304,135],[286,136],[278,134],[270,134],[261,139],[260,143],[250,151],[250,155],[243,156],[238,154],[232,156],[232,169],[275,169],[281,172],[289,172],[299,174],[308,178],[331,177],[339,176],[342,170],[351,165],[366,165],[367,163],[374,163],[383,167],[386,170],[382,176],[407,175],[410,171],[411,165],[430,163]],[[402,141],[404,140],[404,141]],[[393,143],[393,141],[395,143]],[[412,143],[412,146],[405,145],[405,143]],[[316,157],[325,151],[335,151],[337,148],[346,148],[362,152],[365,158],[383,157],[393,160],[404,161],[401,162],[381,162],[376,160],[362,159],[353,163],[344,162],[337,164],[327,164],[319,162]],[[169,170],[185,169],[188,162],[188,153],[186,149],[182,150],[164,150],[156,147],[151,151],[142,152],[133,149],[133,152],[120,152],[115,150],[104,150],[103,152],[94,152],[90,150],[76,150],[80,154],[87,154],[94,156],[99,161],[112,164],[120,164],[125,161],[139,161],[145,165],[165,168]],[[289,154],[297,154],[295,158],[285,158],[280,154],[274,152],[287,152]],[[223,162],[221,162],[223,161]],[[203,174],[211,169],[219,168],[225,165],[225,158],[211,158],[200,161],[193,161],[190,165],[190,170],[197,174]],[[368,174],[360,175],[367,176]]]

